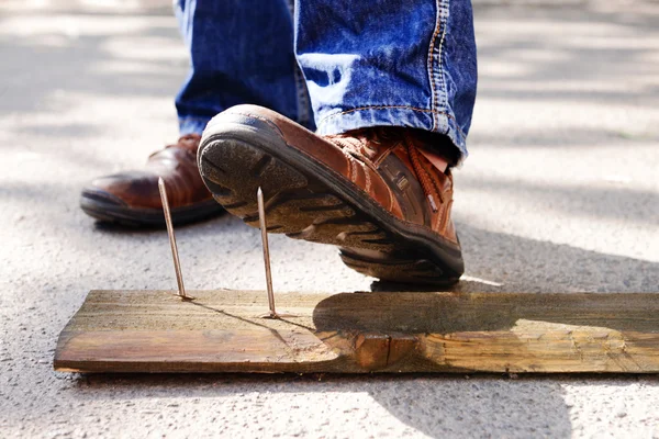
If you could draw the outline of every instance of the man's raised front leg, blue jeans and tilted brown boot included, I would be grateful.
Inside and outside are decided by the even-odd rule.
[[[476,95],[468,0],[300,0],[297,55],[319,133],[239,105],[213,119],[202,178],[231,213],[342,248],[355,270],[451,283],[463,272],[450,167]]]

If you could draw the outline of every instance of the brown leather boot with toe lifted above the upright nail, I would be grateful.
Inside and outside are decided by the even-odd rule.
[[[340,247],[344,262],[388,281],[456,282],[463,263],[450,218],[453,177],[410,130],[317,136],[270,110],[234,106],[203,133],[201,176],[228,212],[258,227]]]

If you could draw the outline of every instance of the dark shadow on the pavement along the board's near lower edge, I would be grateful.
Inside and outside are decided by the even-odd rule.
[[[185,395],[188,401],[232,397],[245,385],[260,394],[364,394],[414,431],[433,438],[469,437],[482,431],[507,431],[507,437],[570,437],[569,407],[562,376],[511,380],[496,375],[78,375],[74,392],[80,401]],[[623,379],[634,383],[635,378]],[[133,386],[147,392],[133,396]],[[120,396],[119,399],[122,397]],[[185,403],[183,403],[185,404]],[[297,409],[291,407],[291,416]],[[343,409],[353,410],[349,404]],[[538,416],[541,413],[543,416]],[[521,421],[523,420],[523,421]],[[523,428],[521,428],[523,426]]]

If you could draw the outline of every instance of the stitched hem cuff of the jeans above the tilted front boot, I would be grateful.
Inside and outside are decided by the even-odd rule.
[[[405,126],[420,128],[446,135],[458,148],[461,164],[468,156],[466,136],[447,112],[435,112],[414,106],[364,106],[333,113],[316,121],[320,135],[340,134],[351,130],[368,128],[371,126]],[[437,130],[432,130],[437,126]]]

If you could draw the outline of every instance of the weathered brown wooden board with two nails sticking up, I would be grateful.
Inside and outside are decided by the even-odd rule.
[[[659,294],[92,291],[71,372],[659,372]]]

